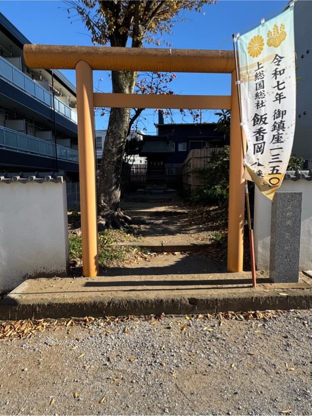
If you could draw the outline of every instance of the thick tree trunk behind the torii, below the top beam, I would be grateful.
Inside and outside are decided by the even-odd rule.
[[[136,79],[136,72],[113,71],[113,93],[132,94]],[[131,221],[119,207],[122,160],[129,118],[129,108],[111,109],[98,180],[98,220],[106,227],[119,228]]]

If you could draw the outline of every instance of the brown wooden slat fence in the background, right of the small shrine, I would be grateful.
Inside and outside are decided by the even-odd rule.
[[[201,171],[209,168],[210,157],[213,152],[222,148],[192,149],[183,163],[183,189],[192,194],[205,188],[205,180]]]

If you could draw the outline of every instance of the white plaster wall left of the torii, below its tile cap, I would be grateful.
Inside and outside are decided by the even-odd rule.
[[[65,182],[0,182],[0,291],[68,266]]]

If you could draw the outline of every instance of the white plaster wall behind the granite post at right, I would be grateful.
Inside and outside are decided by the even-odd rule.
[[[285,179],[277,192],[302,192],[300,270],[312,270],[312,181]],[[256,188],[254,192],[254,250],[259,270],[270,264],[272,202]],[[287,209],[287,207],[285,207]]]

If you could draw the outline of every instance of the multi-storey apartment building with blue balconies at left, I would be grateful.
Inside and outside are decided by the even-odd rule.
[[[25,43],[0,13],[0,171],[66,170],[77,182],[76,88],[59,71],[28,68]]]

